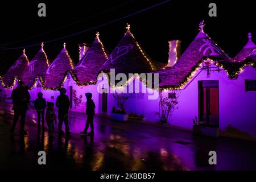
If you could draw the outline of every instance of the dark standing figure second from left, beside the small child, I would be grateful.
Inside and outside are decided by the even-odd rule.
[[[43,93],[38,93],[38,98],[34,102],[36,112],[38,113],[38,131],[41,130],[40,118],[42,118],[42,129],[44,130],[44,109],[46,109],[46,100],[43,98]]]

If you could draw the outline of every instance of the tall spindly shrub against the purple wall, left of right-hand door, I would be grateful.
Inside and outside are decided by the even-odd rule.
[[[176,105],[178,104],[177,98],[180,93],[179,90],[171,90],[168,93],[168,97],[163,97],[162,91],[159,92],[159,112],[155,113],[155,115],[159,115],[159,123],[162,125],[169,125],[168,119],[174,113],[174,110],[179,109]]]

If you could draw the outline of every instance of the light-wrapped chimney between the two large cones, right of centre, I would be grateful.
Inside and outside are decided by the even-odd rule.
[[[173,67],[177,60],[180,58],[180,43],[180,40],[169,41],[168,67]]]

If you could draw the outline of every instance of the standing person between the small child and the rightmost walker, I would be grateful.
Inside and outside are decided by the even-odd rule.
[[[67,90],[65,88],[60,89],[60,96],[57,97],[56,107],[59,109],[58,111],[59,134],[64,134],[62,130],[62,124],[64,122],[66,134],[69,135],[71,134],[68,126],[68,110],[69,110],[70,102],[66,93],[67,93]]]

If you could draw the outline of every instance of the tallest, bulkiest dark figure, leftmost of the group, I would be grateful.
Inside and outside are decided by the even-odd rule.
[[[19,81],[17,88],[11,93],[11,98],[13,99],[13,109],[14,109],[14,118],[13,126],[11,127],[11,132],[14,132],[15,126],[20,117],[20,130],[21,135],[26,135],[27,131],[24,130],[25,119],[28,110],[28,104],[30,101],[30,93],[28,92],[27,87],[24,85],[23,81]]]

